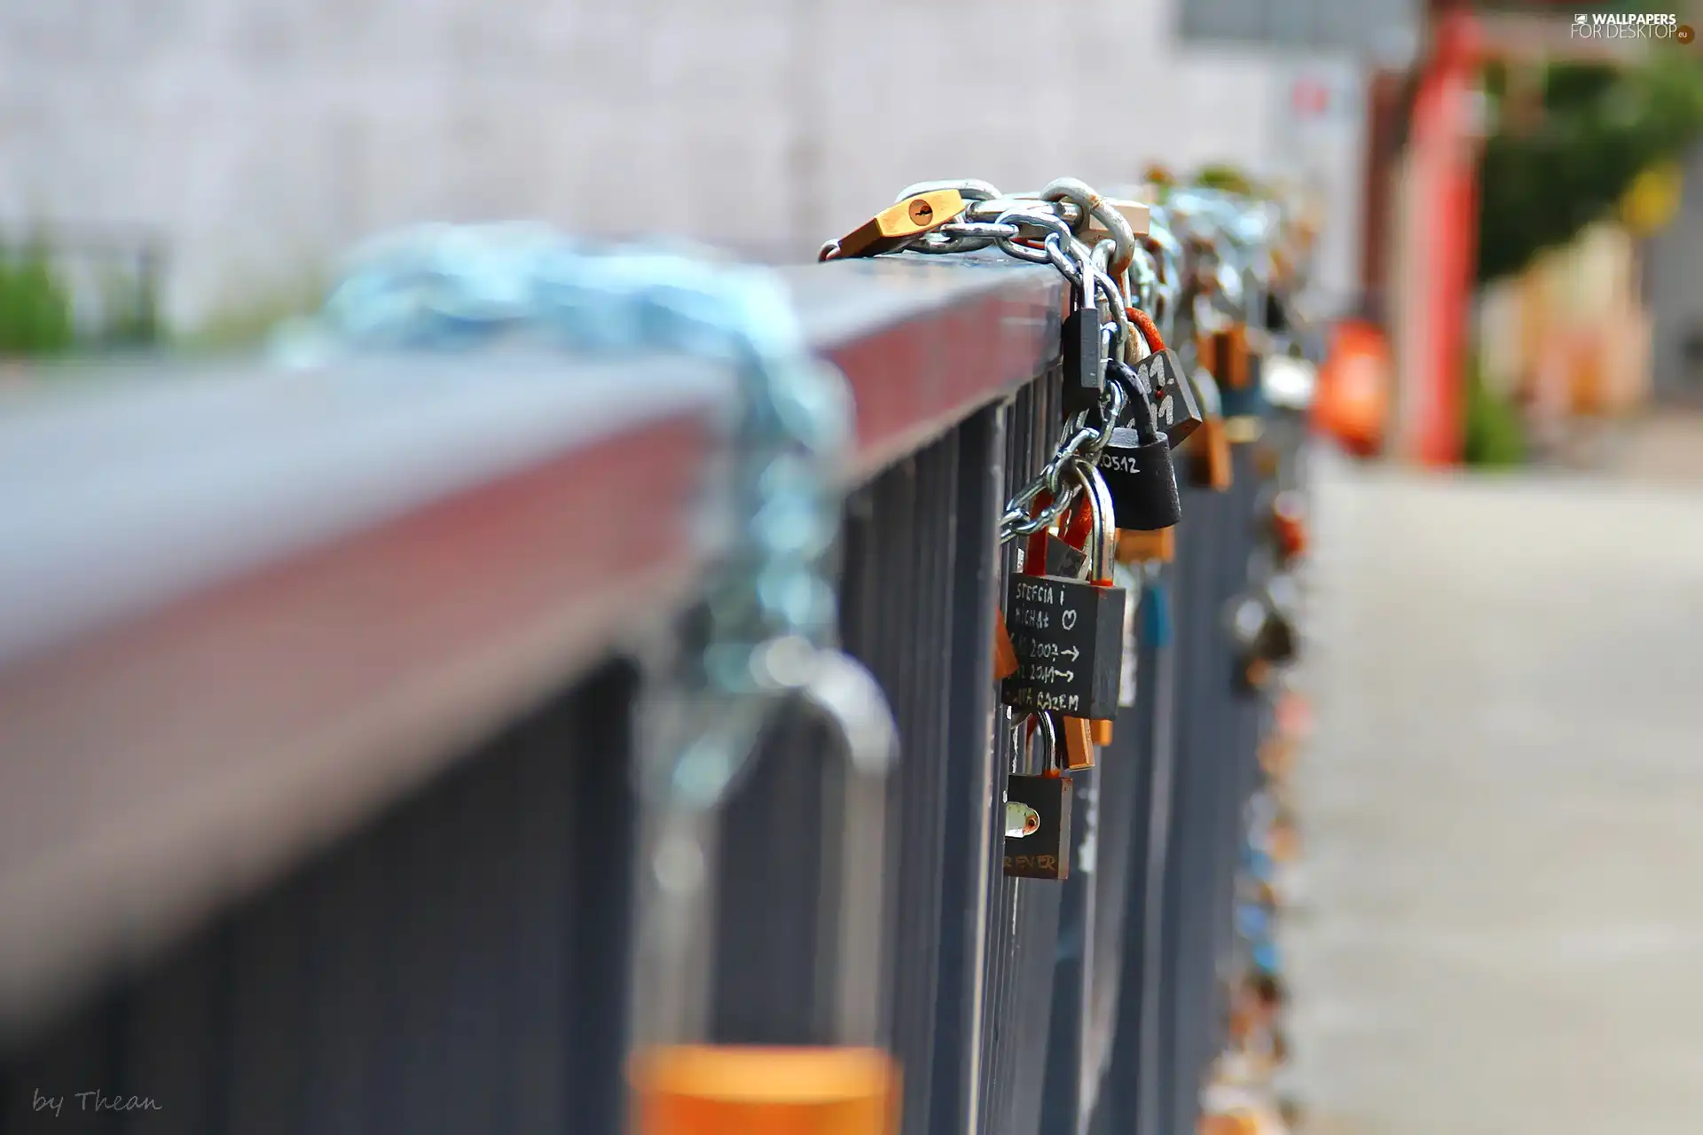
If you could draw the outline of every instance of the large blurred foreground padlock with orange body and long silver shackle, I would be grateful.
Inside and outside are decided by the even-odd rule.
[[[782,647],[783,648],[783,647]],[[843,1132],[894,1135],[903,1115],[901,1072],[880,1040],[877,1007],[886,987],[882,861],[889,844],[887,774],[897,762],[897,730],[875,677],[838,650],[816,650],[795,693],[840,742],[824,769],[838,808],[824,810],[812,837],[819,881],[838,875],[834,931],[817,941],[833,1007],[831,1045],[756,1047],[695,1043],[707,1028],[708,982],[678,977],[700,960],[707,897],[703,849],[715,805],[678,795],[683,778],[645,800],[640,846],[639,950],[630,990],[635,1021],[628,1060],[635,1135],[741,1135],[746,1132]],[[790,657],[788,665],[799,659]],[[754,737],[737,733],[741,744]],[[710,735],[714,739],[714,733]],[[802,756],[802,754],[800,754]],[[649,978],[649,980],[645,980]],[[697,1002],[697,1004],[690,1004]]]

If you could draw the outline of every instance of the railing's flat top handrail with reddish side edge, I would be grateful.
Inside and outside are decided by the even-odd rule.
[[[783,274],[857,395],[858,480],[1056,352],[1051,269]],[[705,364],[148,378],[0,412],[0,1029],[349,830],[702,570]]]

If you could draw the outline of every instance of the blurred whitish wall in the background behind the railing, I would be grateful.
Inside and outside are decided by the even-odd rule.
[[[0,0],[0,225],[158,233],[192,325],[419,220],[799,254],[911,180],[1233,160],[1316,180],[1345,288],[1357,71],[1182,51],[1172,2]]]

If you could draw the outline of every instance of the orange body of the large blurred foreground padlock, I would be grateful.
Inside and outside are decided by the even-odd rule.
[[[678,1045],[632,1065],[637,1135],[894,1135],[899,1069],[879,1048]]]

